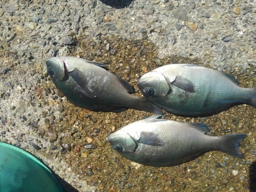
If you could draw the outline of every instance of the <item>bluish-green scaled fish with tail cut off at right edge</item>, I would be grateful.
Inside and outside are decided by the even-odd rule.
[[[256,87],[242,88],[224,72],[194,64],[171,64],[144,74],[142,94],[161,109],[184,117],[217,114],[233,105],[256,106]]]

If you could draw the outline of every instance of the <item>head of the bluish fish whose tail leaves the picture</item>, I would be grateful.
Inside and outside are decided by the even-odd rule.
[[[138,87],[147,98],[165,97],[172,89],[166,78],[160,72],[151,71],[138,81]]]

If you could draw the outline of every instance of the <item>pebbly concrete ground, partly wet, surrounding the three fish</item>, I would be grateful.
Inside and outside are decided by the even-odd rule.
[[[244,170],[256,154],[252,106],[193,118],[217,136],[246,133],[244,159],[209,152],[174,167],[138,165],[113,151],[106,138],[152,114],[78,108],[56,89],[45,59],[80,56],[103,62],[129,81],[136,95],[140,76],[169,63],[196,63],[235,76],[242,87],[256,87],[255,7],[253,0],[0,3],[0,141],[42,159],[65,191],[245,191],[252,174]],[[168,113],[164,118],[192,121]]]

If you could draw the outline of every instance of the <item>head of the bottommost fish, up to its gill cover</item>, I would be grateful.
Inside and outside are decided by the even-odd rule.
[[[109,135],[108,138],[114,150],[123,156],[130,156],[136,152],[137,142],[125,131],[119,130]]]

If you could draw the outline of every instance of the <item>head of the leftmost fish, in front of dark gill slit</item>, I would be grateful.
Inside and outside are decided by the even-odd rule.
[[[46,59],[47,73],[53,81],[65,81],[69,79],[65,59],[62,57],[50,57]]]

